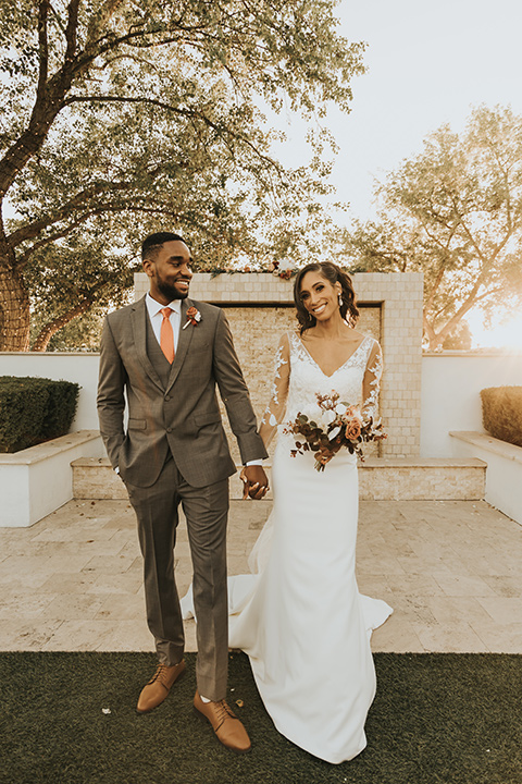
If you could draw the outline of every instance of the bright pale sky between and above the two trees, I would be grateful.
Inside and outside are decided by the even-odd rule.
[[[339,16],[345,37],[368,44],[351,113],[332,111],[327,121],[340,146],[332,182],[350,203],[347,221],[374,216],[374,177],[419,151],[443,123],[461,131],[480,103],[509,103],[522,114],[520,0],[341,0]],[[290,144],[279,155],[297,166],[302,126],[285,130]],[[469,322],[476,345],[522,348],[522,316],[487,330],[480,314]]]

